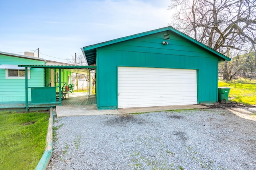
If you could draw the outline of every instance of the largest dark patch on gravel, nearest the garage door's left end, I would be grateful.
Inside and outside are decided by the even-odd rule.
[[[132,123],[137,123],[137,124],[145,124],[144,119],[139,119],[134,117],[134,115],[130,114],[125,114],[125,115],[117,115],[116,118],[110,119],[104,122],[104,125],[107,126],[115,126],[115,125],[127,125],[127,124],[132,124]]]

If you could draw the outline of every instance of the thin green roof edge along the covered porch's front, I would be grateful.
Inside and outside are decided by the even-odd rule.
[[[80,68],[96,68],[96,66],[78,66],[78,65],[66,65],[66,66],[56,66],[56,65],[25,65],[25,64],[19,64],[19,67],[30,67],[30,68],[73,68],[73,69],[80,69]]]

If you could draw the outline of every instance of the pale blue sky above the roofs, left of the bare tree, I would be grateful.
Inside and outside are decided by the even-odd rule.
[[[67,63],[82,47],[168,26],[170,0],[0,0],[0,51]],[[37,53],[37,51],[35,51]]]

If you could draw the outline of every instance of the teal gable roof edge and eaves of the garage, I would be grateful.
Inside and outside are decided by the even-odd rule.
[[[152,31],[147,31],[147,32],[138,33],[138,34],[134,34],[134,35],[130,35],[130,36],[127,36],[127,37],[113,39],[113,40],[110,40],[110,41],[105,41],[105,42],[94,44],[94,45],[88,45],[86,47],[81,48],[81,50],[84,54],[84,57],[85,57],[86,62],[88,63],[88,65],[92,65],[92,64],[96,63],[96,49],[97,48],[104,47],[106,45],[111,45],[111,44],[114,44],[114,43],[119,43],[119,42],[122,42],[122,41],[127,41],[127,40],[138,38],[138,37],[143,37],[143,36],[154,34],[154,33],[163,32],[163,31],[171,31],[172,33],[180,35],[181,37],[187,39],[188,41],[206,49],[207,51],[210,51],[211,53],[214,53],[215,55],[217,55],[223,61],[230,61],[231,60],[229,57],[226,57],[225,55],[219,53],[218,51],[215,51],[214,49],[208,47],[207,45],[204,45],[203,43],[200,43],[199,41],[197,41],[197,40],[193,39],[192,37],[178,31],[177,29],[174,29],[171,26],[163,27],[163,28],[159,28],[159,29],[154,29]]]

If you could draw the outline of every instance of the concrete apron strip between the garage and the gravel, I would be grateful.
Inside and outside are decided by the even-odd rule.
[[[126,108],[117,110],[98,110],[97,105],[84,106],[56,106],[57,117],[64,116],[82,116],[82,115],[114,115],[129,113],[145,113],[154,111],[180,110],[180,109],[205,109],[206,106],[201,105],[182,105],[182,106],[162,106],[162,107],[141,107]]]

